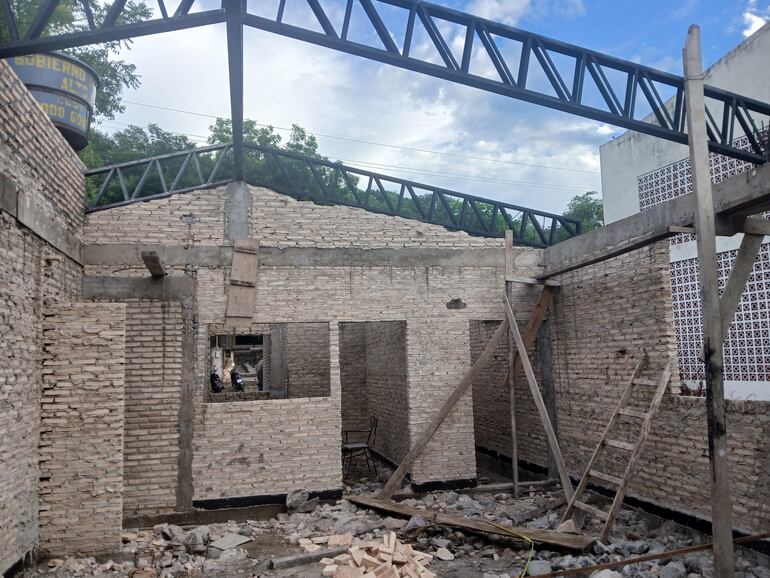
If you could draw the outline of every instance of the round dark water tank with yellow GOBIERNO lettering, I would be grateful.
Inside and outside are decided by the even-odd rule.
[[[70,146],[84,149],[100,83],[96,72],[57,53],[16,56],[8,62]]]

